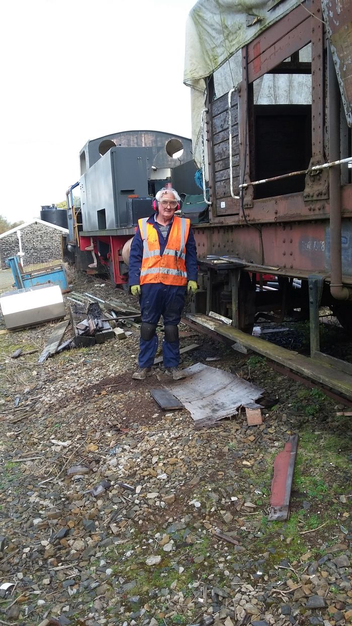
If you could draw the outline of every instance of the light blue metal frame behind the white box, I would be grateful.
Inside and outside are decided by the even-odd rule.
[[[53,265],[53,267],[44,267],[41,270],[23,273],[19,257],[8,257],[5,263],[8,267],[11,267],[14,282],[18,289],[51,283],[59,285],[62,292],[69,291],[68,279],[63,265]]]

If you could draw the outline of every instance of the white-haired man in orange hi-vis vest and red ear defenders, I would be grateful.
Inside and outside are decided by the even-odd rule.
[[[164,319],[163,361],[174,380],[184,378],[179,366],[178,324],[184,307],[186,287],[197,287],[197,253],[190,221],[174,215],[179,208],[174,189],[161,189],[153,201],[155,213],[138,220],[129,256],[129,285],[139,295],[142,324],[138,371],[133,378],[143,381],[158,349],[156,325]]]

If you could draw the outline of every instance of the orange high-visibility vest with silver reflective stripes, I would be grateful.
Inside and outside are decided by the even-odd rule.
[[[138,220],[143,239],[143,260],[139,284],[186,285],[186,242],[190,220],[174,215],[168,242],[163,255],[160,254],[159,237],[148,217]]]

